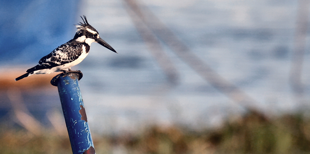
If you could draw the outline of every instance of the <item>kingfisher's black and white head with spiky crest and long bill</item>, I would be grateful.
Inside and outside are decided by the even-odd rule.
[[[80,24],[75,25],[77,27],[77,33],[75,33],[73,40],[78,41],[78,42],[85,42],[89,46],[91,45],[92,42],[99,43],[100,45],[108,48],[109,50],[117,53],[112,46],[110,46],[107,42],[105,42],[102,38],[99,37],[99,33],[97,30],[88,24],[86,16],[83,15],[84,19],[82,16],[80,16],[83,20],[84,23],[80,22]]]

